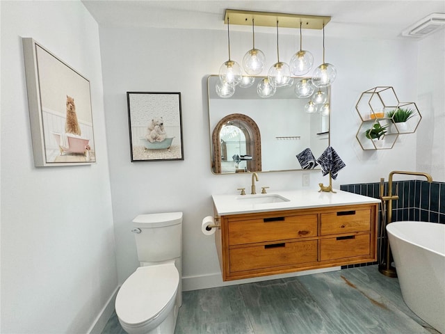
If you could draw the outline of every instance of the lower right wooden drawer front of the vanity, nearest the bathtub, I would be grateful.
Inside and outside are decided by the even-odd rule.
[[[320,260],[334,260],[370,254],[370,234],[321,239]]]

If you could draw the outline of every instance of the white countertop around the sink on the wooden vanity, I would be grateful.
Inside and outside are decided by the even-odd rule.
[[[279,195],[287,198],[289,202],[274,202],[263,204],[245,204],[243,200],[238,200],[243,196],[232,195],[212,195],[213,203],[220,216],[227,214],[250,214],[254,212],[281,211],[292,209],[309,209],[314,207],[335,207],[341,205],[359,205],[380,203],[377,198],[357,195],[347,191],[334,189],[337,193],[318,192],[316,190],[296,190],[296,191],[273,191],[266,195],[258,193],[252,196],[273,196]],[[247,198],[246,197],[246,198]]]

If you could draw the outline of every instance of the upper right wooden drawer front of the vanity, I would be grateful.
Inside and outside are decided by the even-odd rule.
[[[321,235],[364,232],[371,229],[371,209],[321,214]]]

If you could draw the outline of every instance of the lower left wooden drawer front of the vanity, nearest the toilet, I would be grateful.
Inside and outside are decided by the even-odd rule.
[[[229,250],[230,271],[316,262],[317,241],[297,241]]]

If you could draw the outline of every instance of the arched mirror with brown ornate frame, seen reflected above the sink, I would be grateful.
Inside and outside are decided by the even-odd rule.
[[[241,113],[221,119],[212,134],[214,173],[261,171],[261,134],[257,123]]]

